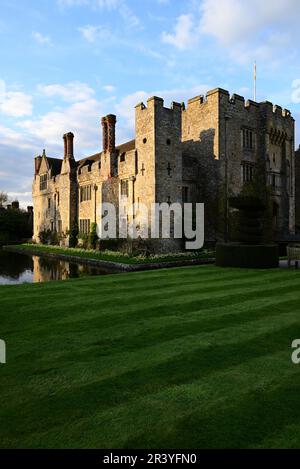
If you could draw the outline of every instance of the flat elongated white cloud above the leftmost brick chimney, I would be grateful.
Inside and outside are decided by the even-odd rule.
[[[48,97],[58,96],[66,102],[79,102],[90,99],[95,91],[86,83],[71,82],[66,85],[39,85],[38,90]]]

